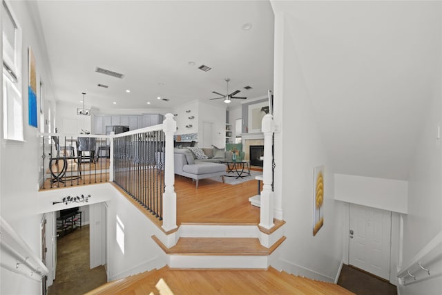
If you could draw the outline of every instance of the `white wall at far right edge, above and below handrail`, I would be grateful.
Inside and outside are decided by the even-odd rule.
[[[442,32],[440,37],[439,44]],[[439,65],[439,73],[434,73],[436,83],[432,89],[432,103],[427,109],[427,120],[421,128],[408,180],[408,215],[403,216],[403,265],[407,265],[442,230],[442,142],[436,136],[437,126],[441,126],[442,122],[441,55],[442,44],[439,47],[439,59],[434,60]],[[439,276],[401,287],[400,292],[401,295],[440,294],[441,286],[442,277]]]

